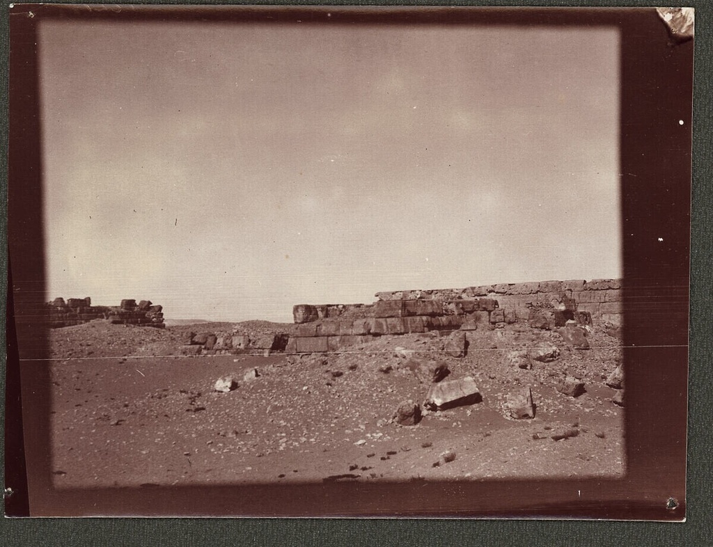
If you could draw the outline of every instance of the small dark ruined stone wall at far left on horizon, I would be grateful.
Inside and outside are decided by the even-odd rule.
[[[69,327],[95,319],[108,319],[118,325],[164,328],[163,307],[148,300],[122,300],[119,306],[92,306],[91,298],[55,298],[46,304],[51,328]]]

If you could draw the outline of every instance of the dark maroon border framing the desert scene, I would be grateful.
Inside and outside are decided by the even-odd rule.
[[[329,7],[329,24],[619,28],[624,479],[53,489],[42,322],[43,231],[51,226],[42,221],[38,21],[287,25],[297,19],[322,24],[327,14],[326,8],[296,6],[97,7],[24,4],[11,10],[6,486],[14,493],[6,499],[6,514],[684,519],[694,42],[672,36],[652,8]]]

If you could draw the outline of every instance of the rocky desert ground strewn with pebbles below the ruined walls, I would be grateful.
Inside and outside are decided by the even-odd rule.
[[[168,323],[168,322],[167,322]],[[51,459],[57,488],[287,481],[616,478],[625,474],[620,390],[605,380],[621,363],[617,331],[594,325],[578,350],[556,330],[477,330],[465,357],[437,331],[384,335],[339,353],[181,355],[189,331],[289,333],[245,322],[112,325],[51,331]],[[555,345],[559,356],[520,368],[513,351]],[[401,425],[401,402],[421,405],[429,379],[410,360],[471,376],[481,402],[427,410]],[[232,376],[237,387],[215,390]],[[565,377],[585,385],[558,390]],[[503,404],[530,387],[535,416]],[[422,405],[421,405],[422,406]]]

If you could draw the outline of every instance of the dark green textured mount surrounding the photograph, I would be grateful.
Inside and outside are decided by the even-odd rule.
[[[70,2],[65,2],[70,3]],[[78,2],[71,2],[77,3]],[[93,1],[94,4],[107,3]],[[145,3],[145,2],[135,2]],[[170,4],[198,4],[168,2]],[[241,4],[247,2],[202,2],[203,4]],[[477,6],[651,6],[645,1],[253,1],[250,4],[332,5],[477,5]],[[7,195],[7,66],[9,2],[0,15],[0,100],[3,131],[0,135],[0,211],[6,219]],[[689,371],[689,467],[686,523],[594,522],[594,521],[506,521],[432,519],[2,519],[0,546],[178,546],[205,545],[713,545],[713,487],[709,448],[713,435],[713,389],[708,366],[713,314],[711,306],[713,256],[713,212],[710,184],[713,174],[712,115],[713,43],[710,36],[713,4],[704,1],[674,2],[671,6],[696,9],[694,155],[692,184],[692,263],[691,263],[691,347]],[[6,222],[0,224],[1,244],[6,249]],[[6,252],[0,253],[6,271]],[[6,291],[6,278],[0,276]],[[4,309],[4,300],[0,300]],[[4,323],[5,314],[0,315]],[[4,332],[4,330],[3,330]],[[3,343],[2,347],[5,345]],[[4,349],[2,350],[4,352]],[[4,360],[2,370],[4,377]],[[4,386],[4,384],[3,384]],[[0,395],[0,419],[4,422],[4,390]],[[2,441],[0,440],[0,443]],[[4,454],[4,444],[0,447]],[[3,462],[4,467],[4,462]]]

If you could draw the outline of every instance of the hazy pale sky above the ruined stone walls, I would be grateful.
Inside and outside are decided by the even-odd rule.
[[[47,294],[292,321],[622,274],[614,28],[45,21]]]

